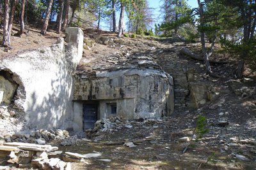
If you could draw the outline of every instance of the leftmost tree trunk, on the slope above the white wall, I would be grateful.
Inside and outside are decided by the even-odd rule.
[[[9,0],[4,0],[3,46],[8,46]]]

